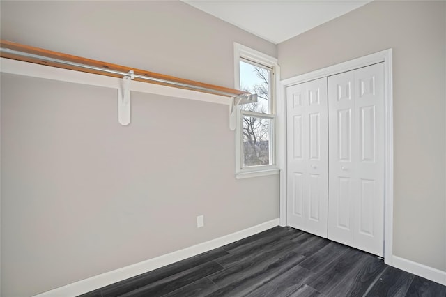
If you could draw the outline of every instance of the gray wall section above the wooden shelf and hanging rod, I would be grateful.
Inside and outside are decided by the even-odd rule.
[[[232,87],[233,42],[276,46],[180,1],[1,1],[1,39]]]

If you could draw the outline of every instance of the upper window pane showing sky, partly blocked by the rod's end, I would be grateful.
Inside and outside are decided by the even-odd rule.
[[[240,89],[257,94],[257,102],[242,105],[243,110],[270,114],[271,70],[240,61]]]

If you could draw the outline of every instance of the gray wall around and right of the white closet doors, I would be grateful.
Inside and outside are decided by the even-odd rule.
[[[394,254],[443,271],[445,6],[374,1],[278,46],[282,79],[393,48]]]

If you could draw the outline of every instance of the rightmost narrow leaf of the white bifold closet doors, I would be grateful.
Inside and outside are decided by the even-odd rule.
[[[355,247],[383,256],[384,241],[384,66],[355,70],[357,203]]]

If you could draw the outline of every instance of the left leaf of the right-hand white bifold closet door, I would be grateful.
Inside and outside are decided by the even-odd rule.
[[[355,152],[353,72],[328,77],[329,199],[328,238],[353,245]]]

